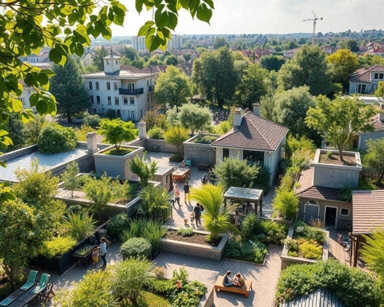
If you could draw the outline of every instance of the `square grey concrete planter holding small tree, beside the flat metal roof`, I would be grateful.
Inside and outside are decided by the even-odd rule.
[[[136,155],[142,157],[144,147],[122,147],[133,148],[134,150],[124,155],[103,154],[103,152],[114,148],[114,145],[111,145],[103,150],[93,153],[95,172],[100,174],[106,172],[108,176],[118,176],[119,179],[137,178],[137,176],[129,170],[128,160],[131,160]]]

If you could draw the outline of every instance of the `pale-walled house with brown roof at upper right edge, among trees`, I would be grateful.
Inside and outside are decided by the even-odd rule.
[[[379,81],[384,81],[384,66],[359,68],[349,77],[349,94],[372,94]]]

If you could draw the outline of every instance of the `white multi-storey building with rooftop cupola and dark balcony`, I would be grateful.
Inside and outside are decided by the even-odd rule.
[[[104,71],[83,74],[89,92],[91,114],[105,114],[138,121],[147,110],[153,110],[154,74],[120,70],[120,56],[104,58]]]

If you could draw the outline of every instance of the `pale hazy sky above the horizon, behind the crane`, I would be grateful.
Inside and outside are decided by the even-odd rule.
[[[242,34],[312,32],[313,10],[318,17],[316,32],[347,29],[384,29],[384,0],[213,0],[215,9],[210,25],[179,13],[175,34]],[[126,12],[123,27],[112,26],[113,36],[136,35],[139,27],[152,18],[151,11],[134,8],[134,0],[120,0]]]

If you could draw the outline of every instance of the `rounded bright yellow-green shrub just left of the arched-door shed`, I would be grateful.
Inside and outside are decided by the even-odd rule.
[[[298,198],[294,191],[277,189],[272,206],[280,217],[291,219],[298,210]]]

